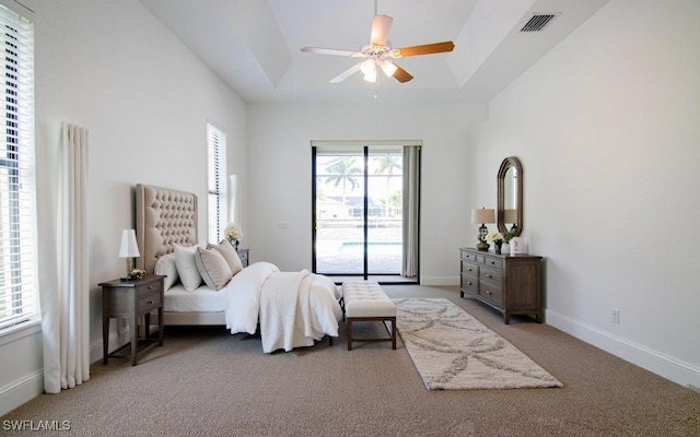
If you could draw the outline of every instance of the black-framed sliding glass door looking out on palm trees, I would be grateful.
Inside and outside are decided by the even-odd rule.
[[[316,273],[340,276],[406,275],[404,146],[313,150]],[[417,208],[417,203],[412,203]]]

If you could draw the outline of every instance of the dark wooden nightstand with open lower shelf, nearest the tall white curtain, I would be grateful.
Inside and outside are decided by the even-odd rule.
[[[165,276],[150,275],[142,280],[113,280],[100,284],[102,287],[102,344],[103,364],[109,357],[109,319],[127,319],[131,332],[131,365],[136,366],[139,341],[163,345],[163,280]],[[158,339],[151,338],[151,311],[158,309]],[[139,318],[144,316],[143,336],[139,338]],[[126,345],[125,345],[126,346]],[[122,347],[125,347],[122,346]],[[121,347],[119,347],[120,350]],[[116,351],[115,351],[116,352]],[[114,354],[114,353],[113,353]]]

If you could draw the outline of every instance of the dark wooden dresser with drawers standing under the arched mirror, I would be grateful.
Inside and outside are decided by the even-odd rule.
[[[475,248],[459,248],[459,295],[483,302],[503,314],[533,315],[542,322],[542,257],[497,255]]]

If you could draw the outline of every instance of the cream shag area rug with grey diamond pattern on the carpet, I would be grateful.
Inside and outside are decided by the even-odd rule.
[[[563,386],[452,302],[444,298],[393,300],[398,332],[428,389]]]

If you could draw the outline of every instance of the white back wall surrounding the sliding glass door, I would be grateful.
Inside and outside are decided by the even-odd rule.
[[[371,98],[371,97],[369,97]],[[249,105],[249,216],[253,261],[282,270],[311,269],[312,140],[422,140],[421,282],[458,284],[459,245],[476,227],[467,189],[469,127],[485,105]],[[493,167],[490,180],[495,189]],[[479,200],[481,202],[482,200]],[[495,194],[483,200],[495,204]],[[280,228],[280,223],[289,223]]]

